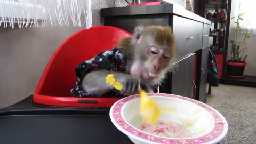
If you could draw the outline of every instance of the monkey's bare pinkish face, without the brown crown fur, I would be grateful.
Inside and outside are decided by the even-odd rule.
[[[142,83],[158,82],[159,78],[163,77],[163,71],[169,65],[172,53],[167,46],[150,42],[146,45],[138,44],[136,48],[137,53],[134,54],[131,75],[138,77]]]

